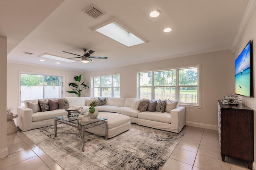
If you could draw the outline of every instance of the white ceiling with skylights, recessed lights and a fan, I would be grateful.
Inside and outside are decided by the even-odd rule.
[[[1,0],[0,35],[7,37],[8,62],[81,71],[109,68],[232,49],[239,39],[243,16],[252,8],[248,6],[251,1]],[[82,10],[90,4],[106,14],[96,20],[84,14]],[[150,18],[152,10],[159,10],[161,15]],[[128,48],[92,31],[113,18],[148,43]],[[165,27],[172,27],[172,31],[164,33]],[[94,50],[92,56],[108,59],[56,64],[38,57],[43,53],[76,57],[61,51],[83,55],[83,48]]]

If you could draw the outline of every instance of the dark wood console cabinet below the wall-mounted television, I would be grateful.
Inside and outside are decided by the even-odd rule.
[[[223,105],[218,101],[218,132],[222,161],[225,156],[245,160],[252,169],[254,161],[254,111],[240,106]]]

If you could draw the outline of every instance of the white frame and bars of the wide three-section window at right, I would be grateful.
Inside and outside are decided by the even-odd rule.
[[[179,84],[179,70],[189,69],[189,68],[197,68],[197,85],[180,85]],[[170,71],[175,70],[176,72],[176,84],[172,86],[155,86],[154,84],[154,72],[161,72],[161,71]],[[151,86],[140,86],[140,74],[141,73],[148,73],[151,72],[152,74],[152,83]],[[174,87],[175,88],[175,100],[180,101],[180,87],[197,87],[197,100],[198,104],[192,103],[180,103],[180,106],[185,107],[194,107],[194,108],[201,108],[201,64],[189,65],[189,66],[178,66],[174,68],[166,68],[162,70],[148,70],[137,72],[137,98],[140,98],[140,88],[151,88],[151,100],[154,100],[155,96],[155,88],[162,88],[162,87]]]

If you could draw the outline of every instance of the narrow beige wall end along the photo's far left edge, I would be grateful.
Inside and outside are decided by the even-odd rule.
[[[8,156],[6,136],[6,62],[7,62],[7,37],[0,36],[0,158]]]

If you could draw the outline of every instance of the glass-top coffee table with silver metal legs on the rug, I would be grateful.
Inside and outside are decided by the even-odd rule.
[[[79,130],[80,139],[82,142],[82,152],[84,152],[84,130],[105,123],[105,125],[106,125],[105,139],[108,140],[108,121],[107,121],[108,119],[107,118],[98,116],[97,119],[91,120],[89,122],[81,122],[78,119],[78,115],[83,115],[83,114],[80,113],[80,114],[72,115],[72,116],[68,116],[68,115],[56,116],[55,120],[54,120],[54,137],[57,136],[57,121],[60,123],[64,123],[66,125],[75,127]],[[84,114],[84,115],[86,115],[86,114]]]

